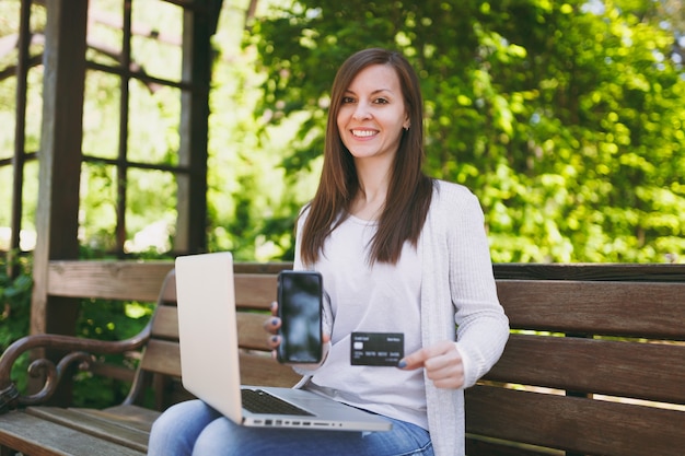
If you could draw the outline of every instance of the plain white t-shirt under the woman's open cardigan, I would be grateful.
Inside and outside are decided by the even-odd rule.
[[[314,372],[313,388],[345,404],[428,429],[423,370],[357,366],[350,363],[350,334],[403,332],[405,355],[421,348],[421,259],[405,243],[396,265],[369,266],[376,223],[348,218],[326,239],[315,268],[333,314],[332,344]]]

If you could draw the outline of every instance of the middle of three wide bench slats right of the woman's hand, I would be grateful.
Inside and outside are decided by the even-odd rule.
[[[511,335],[485,378],[685,404],[685,362],[674,360],[685,360],[685,344]]]

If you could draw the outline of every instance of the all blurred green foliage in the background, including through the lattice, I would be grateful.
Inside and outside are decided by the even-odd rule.
[[[298,209],[321,166],[327,93],[336,69],[369,46],[404,51],[426,98],[427,171],[480,198],[497,261],[663,261],[682,254],[685,190],[683,63],[670,58],[683,33],[681,0],[360,1],[265,0],[245,30],[247,0],[225,5],[214,37],[209,137],[209,249],[243,260],[292,258]],[[0,2],[0,35],[16,33],[19,1]],[[92,11],[120,16],[119,0]],[[135,2],[136,24],[162,21],[156,37],[136,35],[135,65],[176,80],[182,13]],[[123,34],[94,21],[90,60],[116,65]],[[45,8],[32,7],[32,28]],[[680,34],[680,35],[678,35]],[[244,39],[243,39],[244,38]],[[241,39],[243,46],[241,47]],[[105,50],[103,50],[105,49]],[[32,55],[42,50],[32,45]],[[10,51],[0,61],[14,63]],[[28,74],[28,150],[39,143],[42,69]],[[83,151],[119,153],[117,75],[89,71]],[[0,81],[2,106],[16,81]],[[131,81],[128,157],[174,165],[181,91]],[[12,109],[0,109],[12,126]],[[11,156],[13,128],[0,132]],[[32,230],[37,166],[24,184],[22,226]],[[0,225],[11,217],[11,173],[0,174]],[[89,161],[82,174],[83,244],[108,250],[119,180],[113,164]],[[165,172],[127,174],[126,237],[166,252],[174,236],[176,183]],[[142,247],[141,247],[142,245]]]

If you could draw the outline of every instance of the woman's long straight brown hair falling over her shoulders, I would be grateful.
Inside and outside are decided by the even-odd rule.
[[[347,219],[359,190],[355,160],[340,139],[337,118],[352,80],[372,65],[390,66],[397,73],[410,127],[403,132],[395,155],[387,197],[371,242],[369,262],[396,264],[404,243],[409,241],[416,247],[421,234],[431,201],[432,179],[422,171],[423,101],[419,80],[402,54],[380,48],[364,49],[342,63],[333,82],[321,180],[302,231],[300,254],[304,264],[313,264],[324,254],[326,237]]]

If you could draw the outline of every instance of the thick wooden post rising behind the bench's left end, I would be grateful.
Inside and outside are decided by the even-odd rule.
[[[73,334],[78,301],[47,297],[48,261],[79,255],[88,0],[47,0],[31,332]]]

